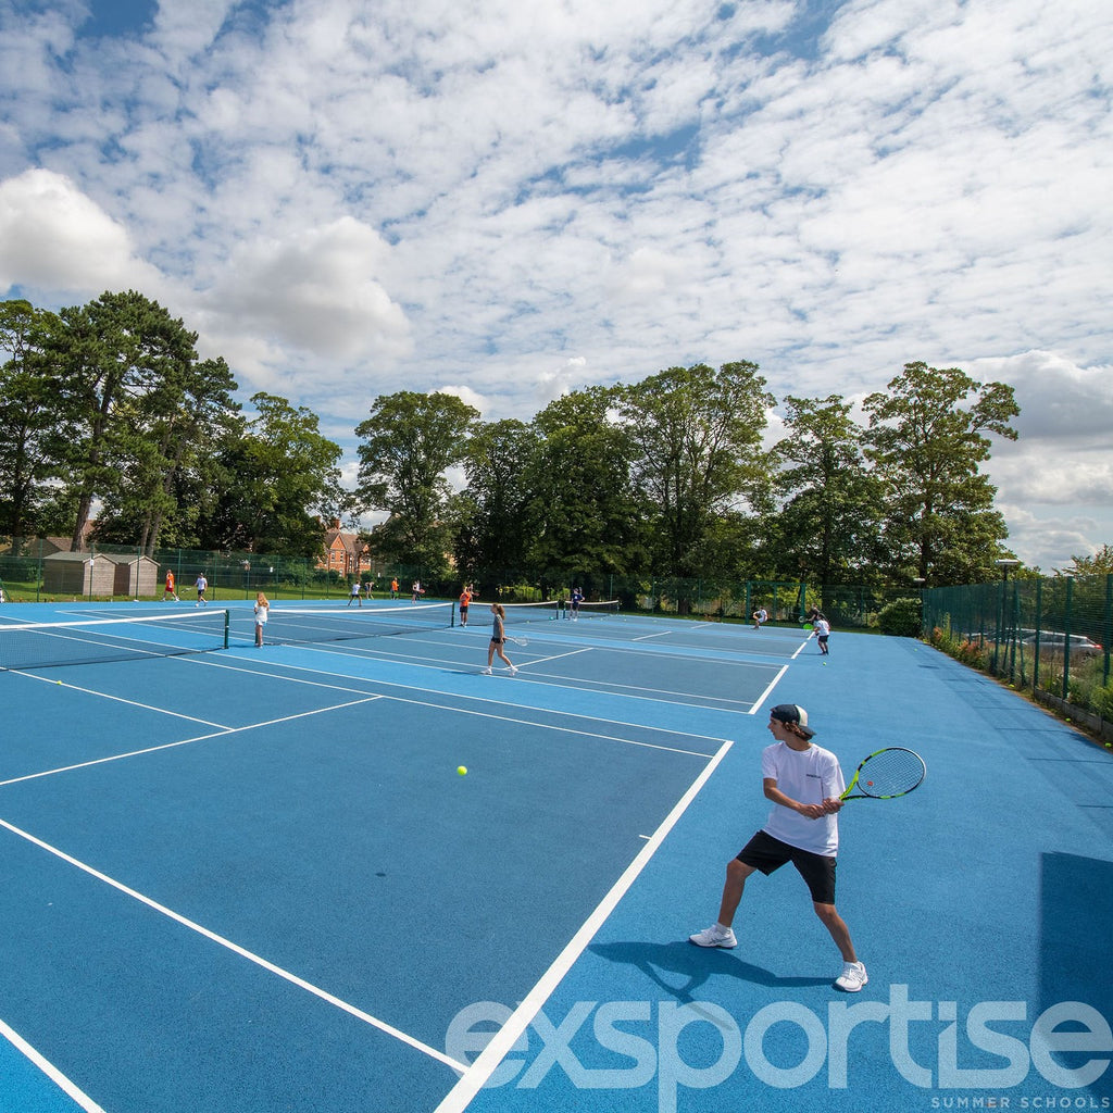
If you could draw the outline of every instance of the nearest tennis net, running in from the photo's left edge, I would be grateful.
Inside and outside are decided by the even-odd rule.
[[[0,624],[0,670],[49,669],[205,653],[228,644],[228,612]]]

